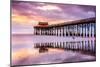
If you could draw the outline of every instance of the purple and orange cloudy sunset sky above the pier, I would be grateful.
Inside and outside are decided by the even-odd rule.
[[[11,6],[13,34],[32,34],[38,22],[59,24],[96,15],[96,7],[90,5],[12,1]]]

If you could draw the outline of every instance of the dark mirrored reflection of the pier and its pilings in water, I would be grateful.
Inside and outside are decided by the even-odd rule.
[[[70,42],[48,42],[35,43],[34,48],[40,48],[40,51],[47,50],[46,48],[59,48],[65,50],[85,51],[95,54],[95,40],[87,41],[70,41]]]

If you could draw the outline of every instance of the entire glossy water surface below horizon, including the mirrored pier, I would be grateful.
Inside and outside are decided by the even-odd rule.
[[[12,65],[95,61],[95,46],[95,38],[14,35]]]

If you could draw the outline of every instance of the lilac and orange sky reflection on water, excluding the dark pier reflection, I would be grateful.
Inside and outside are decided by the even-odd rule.
[[[86,38],[80,40],[84,39],[86,40]],[[39,49],[34,48],[34,43],[66,42],[67,40],[71,41],[72,39],[71,37],[64,38],[56,36],[12,36],[12,64],[29,65],[95,60],[95,56],[84,55],[79,52],[49,48],[47,52],[39,53]],[[78,40],[73,39],[73,41]]]

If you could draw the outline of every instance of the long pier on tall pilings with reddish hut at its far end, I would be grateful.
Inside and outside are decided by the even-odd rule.
[[[53,25],[48,25],[48,22],[39,22],[37,26],[34,26],[34,35],[95,37],[96,18],[93,17]]]

